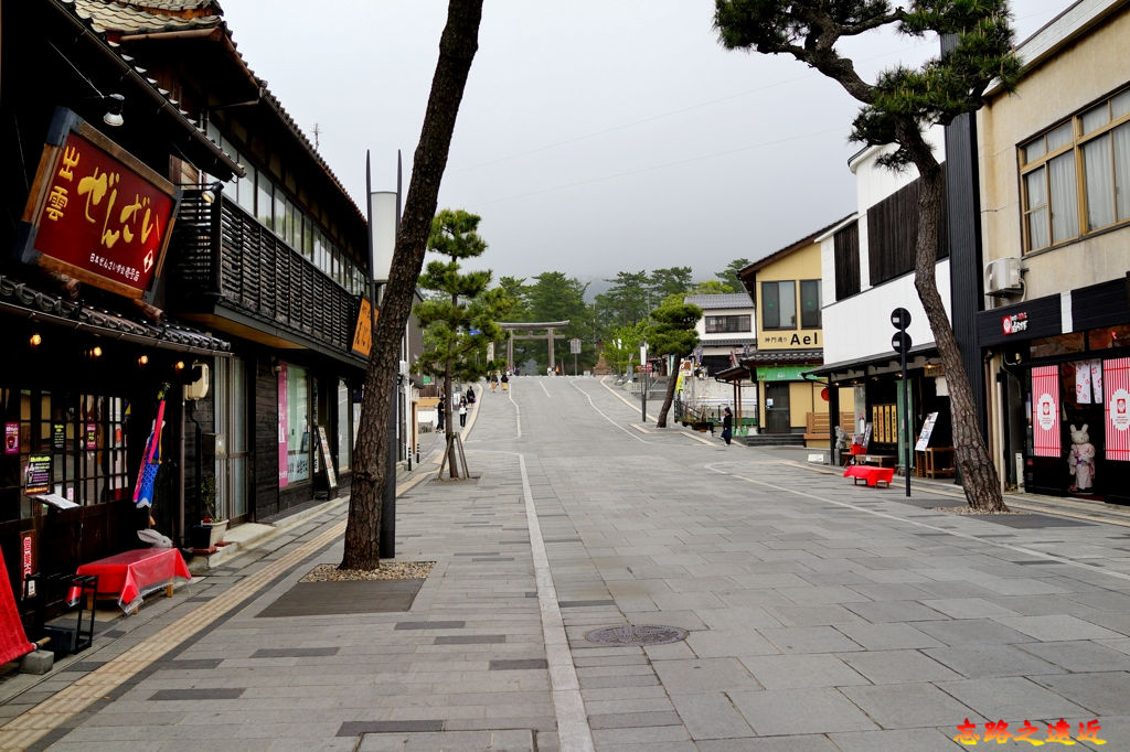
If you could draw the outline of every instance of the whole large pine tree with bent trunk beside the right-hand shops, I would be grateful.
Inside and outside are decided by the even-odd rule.
[[[885,26],[911,36],[937,34],[951,44],[921,68],[899,65],[869,84],[836,44]],[[935,280],[945,180],[924,130],[975,112],[993,79],[1009,90],[1015,87],[1020,64],[1011,52],[1006,0],[911,0],[906,8],[886,0],[715,0],[714,27],[729,50],[790,54],[838,82],[863,104],[851,139],[895,145],[881,164],[918,169],[914,288],[946,369],[954,454],[970,507],[1005,510],[997,467],[977,425],[973,388]]]

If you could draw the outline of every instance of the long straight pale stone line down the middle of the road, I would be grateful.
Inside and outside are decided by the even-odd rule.
[[[557,589],[549,571],[549,558],[541,537],[538,510],[533,506],[533,491],[525,471],[525,457],[518,455],[522,472],[522,496],[525,499],[525,521],[530,528],[530,549],[533,554],[533,572],[538,584],[538,605],[541,610],[541,631],[549,664],[549,681],[553,685],[554,710],[557,715],[557,735],[562,749],[588,752],[593,750],[592,729],[581,698],[581,682],[573,666],[573,653],[565,635],[565,622],[557,605]]]

